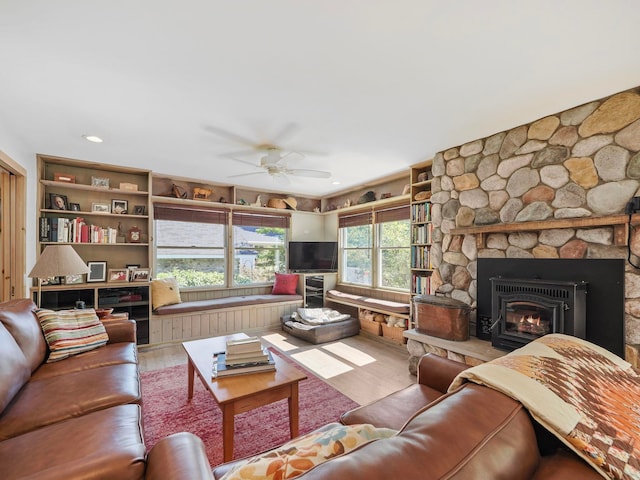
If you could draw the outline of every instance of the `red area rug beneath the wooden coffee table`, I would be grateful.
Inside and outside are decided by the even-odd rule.
[[[300,435],[337,422],[341,413],[358,406],[313,373],[284,358],[307,375],[299,387]],[[193,399],[187,401],[186,364],[142,372],[141,378],[147,447],[172,433],[192,432],[204,441],[211,466],[222,463],[222,413],[197,377]],[[235,419],[235,458],[255,455],[290,438],[286,400],[241,413]]]

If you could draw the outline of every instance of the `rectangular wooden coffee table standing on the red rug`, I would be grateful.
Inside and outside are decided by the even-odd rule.
[[[211,392],[222,411],[223,460],[233,460],[234,416],[278,400],[289,401],[291,438],[298,436],[298,382],[307,376],[299,369],[273,355],[276,370],[212,378],[214,353],[224,352],[227,339],[247,338],[244,333],[183,342],[188,362],[188,397],[193,398],[194,373]]]

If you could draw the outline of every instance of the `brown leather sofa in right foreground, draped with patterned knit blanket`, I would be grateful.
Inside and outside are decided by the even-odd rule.
[[[519,402],[466,383],[445,393],[466,365],[425,355],[418,382],[342,416],[345,424],[399,429],[297,478],[316,480],[601,479],[586,462],[541,429]],[[233,462],[214,469],[219,479]]]

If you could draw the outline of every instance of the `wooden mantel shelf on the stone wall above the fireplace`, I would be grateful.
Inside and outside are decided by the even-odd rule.
[[[629,220],[631,220],[631,222],[629,222]],[[477,235],[476,245],[478,248],[485,248],[486,234],[489,233],[531,232],[551,230],[554,228],[613,226],[614,244],[617,246],[625,246],[627,245],[627,239],[629,237],[629,223],[631,223],[631,225],[640,224],[640,214],[632,215],[631,219],[629,219],[629,215],[609,215],[606,217],[559,218],[535,222],[495,223],[492,225],[452,228],[451,234]]]

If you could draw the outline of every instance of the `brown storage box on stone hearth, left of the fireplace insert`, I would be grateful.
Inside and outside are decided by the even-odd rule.
[[[471,307],[460,300],[436,295],[414,298],[416,330],[419,333],[464,341],[469,339]]]

